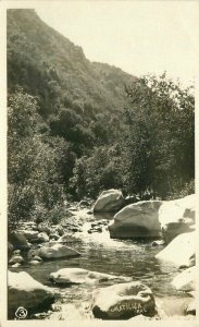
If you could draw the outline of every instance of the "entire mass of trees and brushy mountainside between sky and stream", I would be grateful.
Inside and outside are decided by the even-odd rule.
[[[122,49],[121,49],[122,51]],[[8,10],[9,221],[59,220],[100,191],[194,191],[192,89],[85,58],[34,10]]]

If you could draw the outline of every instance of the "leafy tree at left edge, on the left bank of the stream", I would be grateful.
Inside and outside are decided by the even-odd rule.
[[[57,150],[39,134],[41,118],[33,96],[18,92],[9,98],[9,221],[27,219],[36,204],[52,208],[63,196]]]

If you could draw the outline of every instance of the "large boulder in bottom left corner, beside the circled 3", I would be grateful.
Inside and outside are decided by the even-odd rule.
[[[25,271],[9,271],[8,302],[9,318],[13,318],[18,307],[27,315],[45,311],[54,302],[54,293]]]

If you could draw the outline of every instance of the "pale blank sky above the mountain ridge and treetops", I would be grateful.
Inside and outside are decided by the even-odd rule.
[[[189,84],[199,58],[198,1],[49,1],[36,11],[90,61]]]

